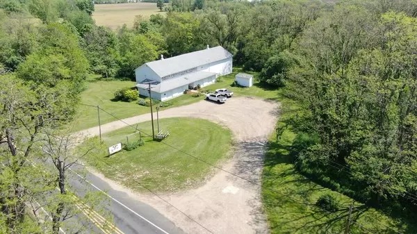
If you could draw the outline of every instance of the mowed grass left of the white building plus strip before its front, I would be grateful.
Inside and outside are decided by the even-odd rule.
[[[136,82],[133,81],[99,81],[94,77],[88,79],[88,88],[81,94],[81,103],[100,106],[100,108],[110,112],[117,118],[124,119],[127,117],[133,117],[136,115],[142,115],[150,112],[150,108],[146,106],[140,106],[137,101],[124,102],[124,101],[112,101],[114,98],[114,92],[124,87],[133,87]],[[170,107],[188,105],[204,99],[204,97],[191,97],[190,95],[182,95],[175,99],[170,100],[173,103]],[[74,121],[74,131],[79,131],[85,128],[91,128],[99,125],[97,117],[97,108],[92,106],[79,106],[78,118]],[[170,108],[167,107],[167,108]],[[164,110],[165,108],[161,108]],[[106,124],[108,122],[116,121],[115,117],[108,115],[106,112],[100,111],[100,122]]]

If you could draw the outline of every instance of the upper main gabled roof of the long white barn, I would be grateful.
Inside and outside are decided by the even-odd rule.
[[[193,69],[194,67],[201,65],[206,65],[209,62],[216,62],[231,57],[232,55],[229,51],[218,46],[210,49],[203,49],[201,51],[184,53],[180,56],[172,58],[147,62],[145,65],[154,70],[158,76],[163,77],[177,72],[186,71],[188,69]]]

